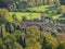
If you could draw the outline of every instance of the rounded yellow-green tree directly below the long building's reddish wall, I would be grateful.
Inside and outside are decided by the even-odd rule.
[[[40,30],[38,29],[37,26],[30,26],[29,32],[31,37],[35,37],[36,39],[40,39]]]

